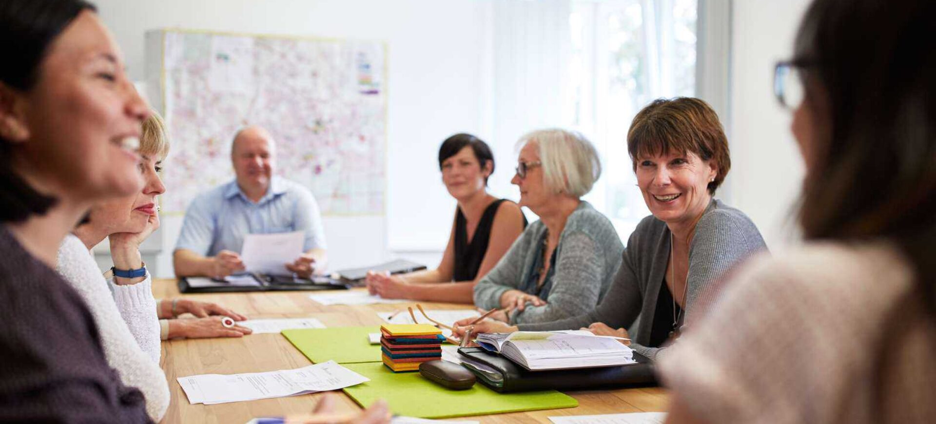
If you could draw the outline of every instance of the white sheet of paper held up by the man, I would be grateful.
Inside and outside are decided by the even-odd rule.
[[[241,259],[248,272],[288,275],[286,263],[302,255],[304,231],[274,234],[247,234],[243,238]]]

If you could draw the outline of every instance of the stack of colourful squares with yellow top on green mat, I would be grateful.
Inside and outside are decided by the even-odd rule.
[[[381,359],[394,373],[418,371],[420,363],[442,358],[446,338],[429,324],[386,324],[380,333]]]

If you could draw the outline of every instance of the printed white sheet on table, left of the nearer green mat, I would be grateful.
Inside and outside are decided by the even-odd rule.
[[[179,377],[178,381],[189,403],[210,405],[337,390],[370,379],[329,360],[295,370],[230,375],[201,374]]]

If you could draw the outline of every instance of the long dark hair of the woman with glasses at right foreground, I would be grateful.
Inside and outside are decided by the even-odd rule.
[[[816,0],[797,33],[806,101],[824,98],[799,222],[810,240],[895,241],[936,313],[932,0]],[[812,103],[809,103],[812,105]]]

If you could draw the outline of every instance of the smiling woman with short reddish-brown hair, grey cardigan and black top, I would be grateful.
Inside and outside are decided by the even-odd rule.
[[[655,358],[714,300],[726,270],[766,249],[747,215],[713,198],[731,160],[722,124],[704,101],[653,101],[634,118],[627,150],[652,215],[631,234],[601,303],[548,322],[508,326],[486,320],[475,325],[475,333],[587,327],[595,334],[631,338],[636,352]]]

